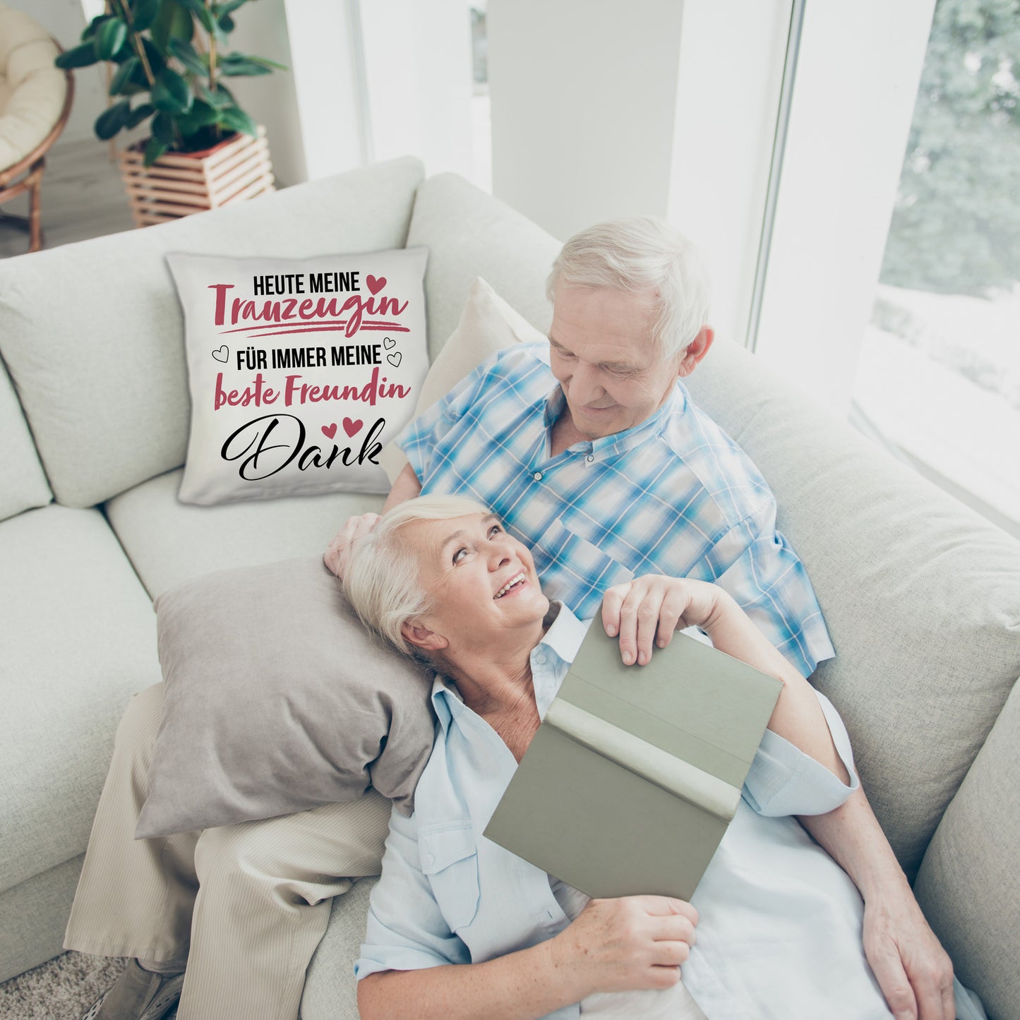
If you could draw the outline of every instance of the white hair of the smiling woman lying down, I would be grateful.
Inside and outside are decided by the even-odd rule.
[[[405,655],[420,658],[401,627],[427,613],[430,602],[421,586],[418,556],[401,531],[416,520],[450,520],[489,512],[465,496],[419,496],[385,514],[351,545],[344,572],[344,594],[361,622]]]

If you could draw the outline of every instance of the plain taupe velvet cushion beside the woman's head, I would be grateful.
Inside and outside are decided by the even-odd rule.
[[[365,632],[318,558],[225,570],[155,603],[163,721],[136,836],[270,818],[369,784],[409,811],[430,677]]]

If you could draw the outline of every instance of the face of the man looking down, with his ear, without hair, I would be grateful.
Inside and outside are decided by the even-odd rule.
[[[641,424],[672,392],[684,352],[659,357],[651,339],[654,318],[650,295],[591,288],[557,291],[549,360],[573,425],[586,439]]]

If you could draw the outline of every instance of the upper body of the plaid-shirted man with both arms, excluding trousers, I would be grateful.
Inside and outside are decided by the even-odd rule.
[[[640,574],[715,581],[810,675],[832,647],[772,494],[679,382],[713,341],[691,245],[651,219],[600,224],[567,241],[548,294],[548,350],[501,352],[414,421],[386,509],[419,493],[491,506],[580,617]],[[374,520],[348,522],[330,568],[343,572],[347,543]],[[867,957],[894,1014],[952,1017],[952,964],[864,792],[803,824],[864,898]]]

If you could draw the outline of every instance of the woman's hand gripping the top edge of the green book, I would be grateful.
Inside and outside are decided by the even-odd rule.
[[[711,627],[726,599],[722,589],[707,581],[646,574],[606,592],[602,624],[610,638],[620,635],[623,662],[644,666],[653,644],[665,648],[674,630]]]

